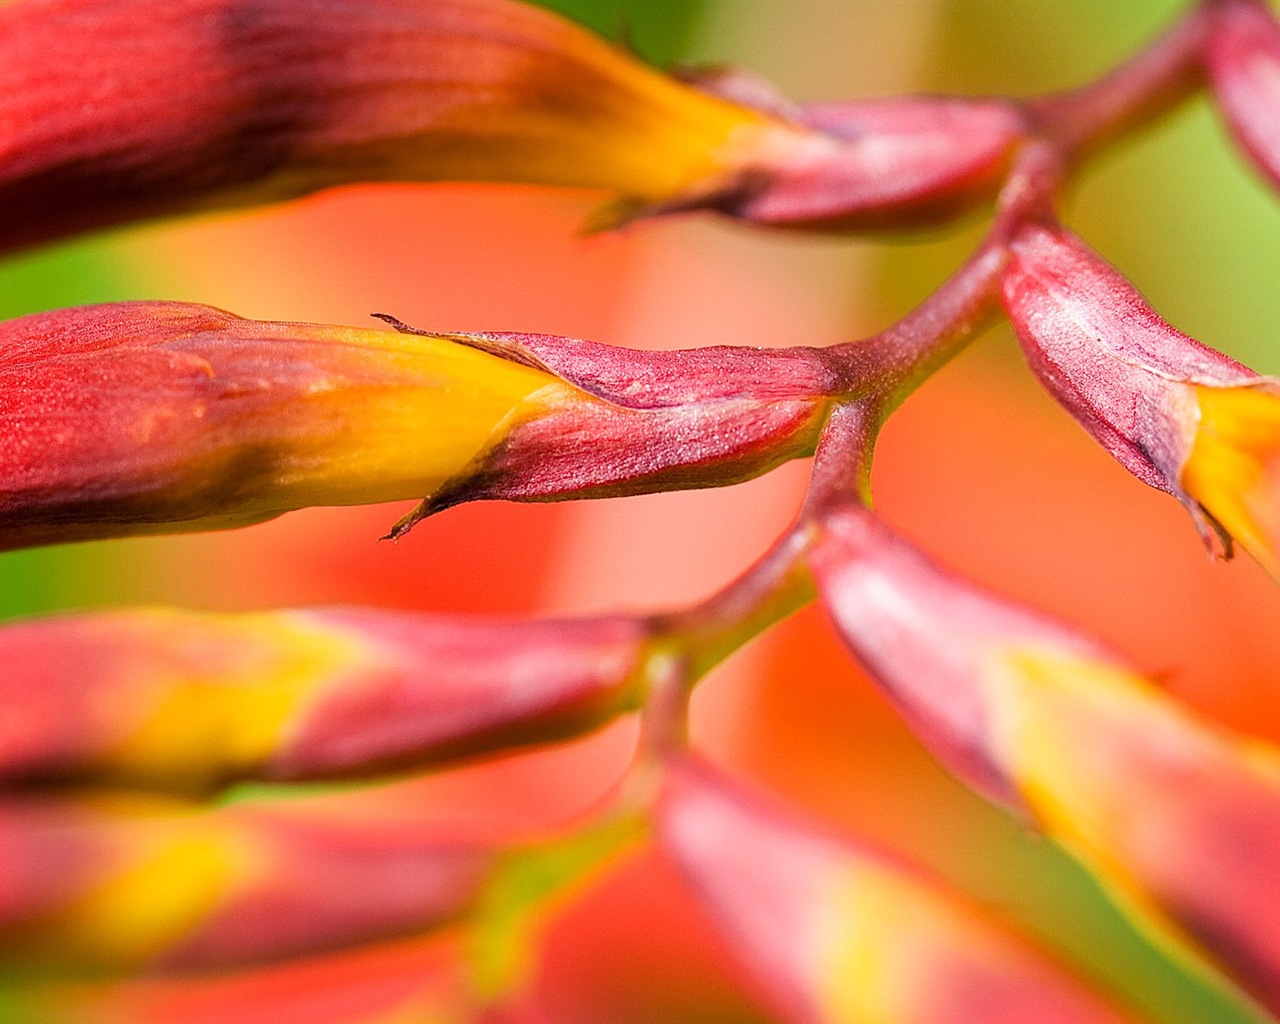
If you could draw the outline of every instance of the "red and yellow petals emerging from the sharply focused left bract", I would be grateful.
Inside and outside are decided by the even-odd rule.
[[[206,306],[0,325],[0,547],[433,492],[567,387],[442,339]]]

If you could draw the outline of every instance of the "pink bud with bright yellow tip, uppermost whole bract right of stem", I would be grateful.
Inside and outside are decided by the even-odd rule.
[[[1005,307],[1041,381],[1206,536],[1225,531],[1276,575],[1280,381],[1175,330],[1060,228],[1027,227],[1010,250]]]

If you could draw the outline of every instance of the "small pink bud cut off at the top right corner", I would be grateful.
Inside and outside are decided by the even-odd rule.
[[[1280,24],[1266,4],[1217,3],[1204,63],[1231,134],[1280,186]]]

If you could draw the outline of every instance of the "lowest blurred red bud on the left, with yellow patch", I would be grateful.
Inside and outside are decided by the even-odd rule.
[[[490,851],[411,801],[127,794],[0,806],[0,961],[230,966],[422,932],[476,897]]]

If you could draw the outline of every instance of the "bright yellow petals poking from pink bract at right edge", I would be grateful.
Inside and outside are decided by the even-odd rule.
[[[1197,387],[1181,485],[1280,580],[1280,390]]]

